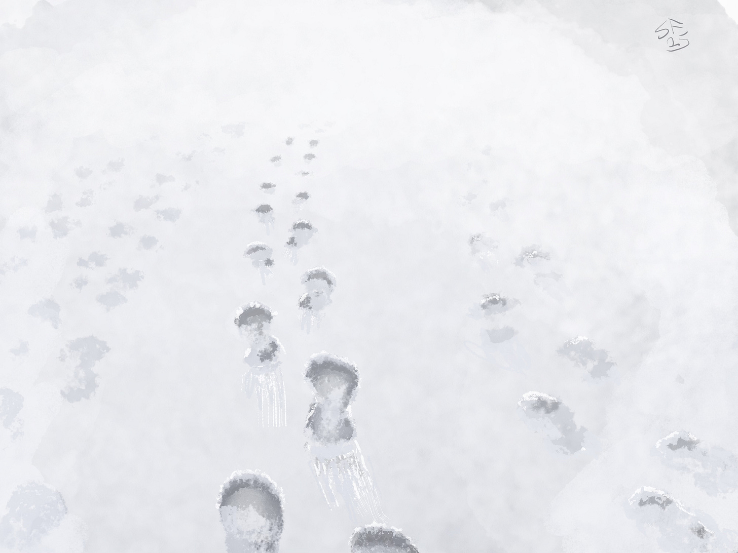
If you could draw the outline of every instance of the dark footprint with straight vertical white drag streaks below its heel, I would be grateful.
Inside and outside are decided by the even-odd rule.
[[[248,344],[244,362],[250,369],[244,375],[244,391],[248,397],[256,395],[258,421],[262,426],[287,425],[287,400],[279,360],[284,348],[269,334],[275,315],[266,305],[251,302],[236,312],[234,320]]]

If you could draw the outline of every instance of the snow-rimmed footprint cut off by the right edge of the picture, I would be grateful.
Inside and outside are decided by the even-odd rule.
[[[738,488],[738,459],[726,449],[710,447],[682,430],[658,440],[656,450],[664,465],[692,473],[694,484],[708,495]]]

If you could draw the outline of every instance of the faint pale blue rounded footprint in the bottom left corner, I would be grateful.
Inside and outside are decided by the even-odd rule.
[[[16,487],[6,509],[0,520],[0,543],[10,549],[32,547],[66,516],[61,493],[38,482]]]

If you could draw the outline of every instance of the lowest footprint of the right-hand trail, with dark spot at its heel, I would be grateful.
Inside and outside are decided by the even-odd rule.
[[[689,512],[671,495],[644,486],[628,500],[627,515],[635,519],[646,535],[658,532],[658,543],[666,551],[706,552],[721,541],[714,521]]]

